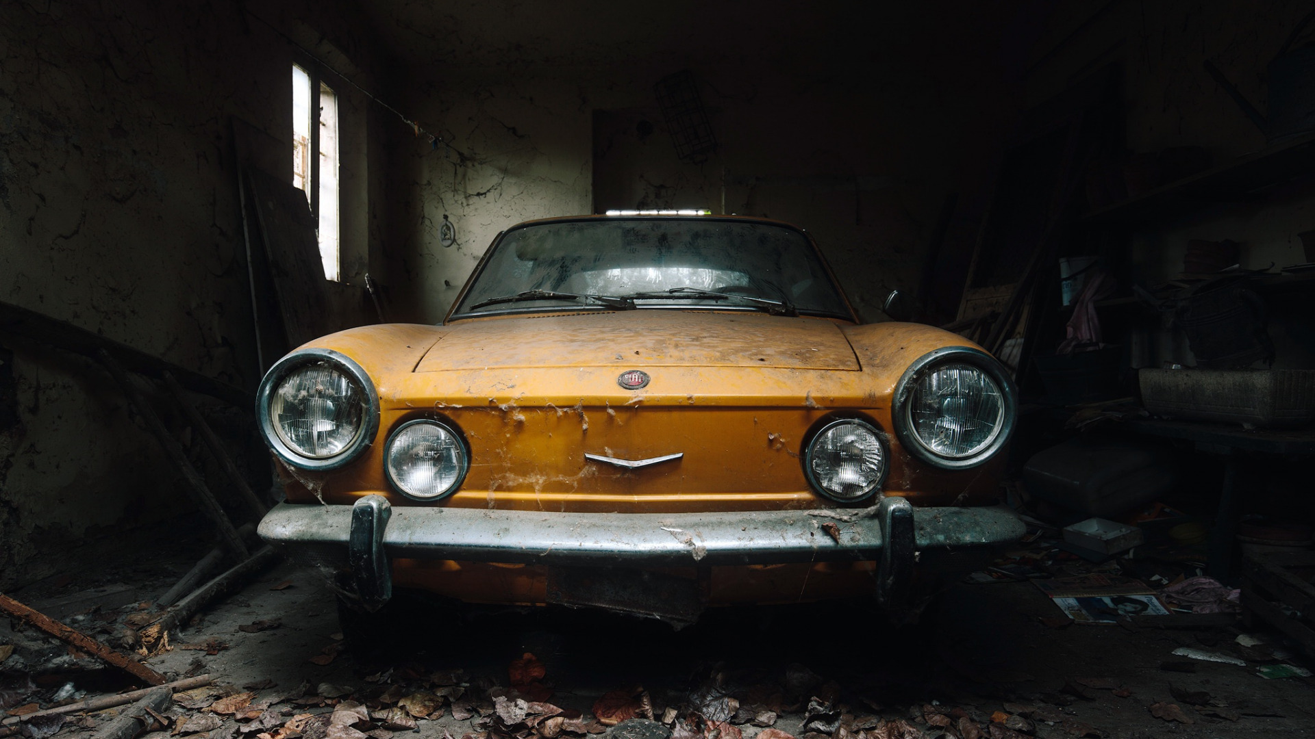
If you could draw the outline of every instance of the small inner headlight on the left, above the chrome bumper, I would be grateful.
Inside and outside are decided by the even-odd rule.
[[[437,421],[409,421],[388,439],[388,479],[402,494],[434,500],[466,477],[469,455],[456,431]]]

